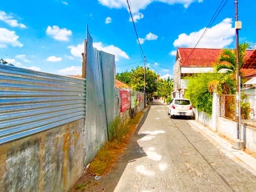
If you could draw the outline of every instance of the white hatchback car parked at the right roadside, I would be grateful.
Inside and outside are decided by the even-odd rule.
[[[174,116],[189,116],[193,117],[192,105],[189,99],[174,98],[168,105],[168,113],[171,118]]]

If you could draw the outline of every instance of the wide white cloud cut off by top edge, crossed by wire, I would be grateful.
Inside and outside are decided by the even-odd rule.
[[[98,0],[103,6],[109,8],[127,8],[126,0]],[[148,4],[155,1],[166,3],[166,4],[183,4],[184,8],[188,8],[191,3],[198,2],[202,3],[203,0],[130,0],[131,8],[134,13],[138,13],[140,10],[144,10]]]

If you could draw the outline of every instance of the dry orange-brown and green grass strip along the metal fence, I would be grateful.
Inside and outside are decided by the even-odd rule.
[[[110,141],[99,150],[93,161],[90,163],[88,172],[95,175],[104,175],[109,173],[113,165],[118,160],[129,144],[131,135],[136,131],[136,125],[140,123],[143,112],[138,113],[134,118],[125,121],[118,116],[112,124],[109,125]]]

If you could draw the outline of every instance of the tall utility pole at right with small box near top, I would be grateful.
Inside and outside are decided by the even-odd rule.
[[[239,36],[238,31],[242,28],[241,21],[238,20],[238,0],[235,0],[236,9],[236,121],[237,121],[237,139],[240,138],[241,131],[241,106],[240,106],[240,63],[239,63]]]

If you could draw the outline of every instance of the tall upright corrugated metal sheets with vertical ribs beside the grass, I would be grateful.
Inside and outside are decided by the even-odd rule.
[[[84,163],[92,161],[108,140],[108,124],[115,118],[115,56],[93,48],[87,33],[86,139]]]

